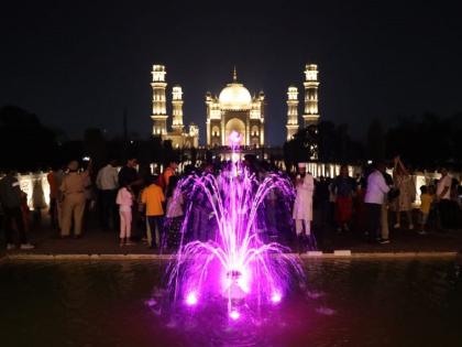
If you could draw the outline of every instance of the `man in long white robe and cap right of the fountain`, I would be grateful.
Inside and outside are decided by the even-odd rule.
[[[302,240],[306,237],[311,238],[312,194],[315,192],[315,180],[310,173],[307,173],[305,163],[298,164],[295,189],[296,197],[294,202],[293,218],[295,219],[297,243],[300,250]]]

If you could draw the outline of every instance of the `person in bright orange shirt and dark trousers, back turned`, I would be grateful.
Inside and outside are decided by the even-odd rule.
[[[156,184],[158,177],[153,176],[150,178],[150,185],[143,189],[141,196],[142,203],[145,205],[145,214],[147,220],[147,243],[150,248],[163,245],[163,228],[162,217],[164,216],[163,203],[165,202],[162,188]],[[154,235],[153,235],[154,232]]]

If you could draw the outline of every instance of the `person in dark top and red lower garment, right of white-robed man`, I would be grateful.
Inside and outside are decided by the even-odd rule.
[[[349,223],[353,215],[353,195],[356,183],[350,177],[348,166],[340,167],[340,175],[332,182],[332,192],[336,195],[336,221],[337,231],[350,231]]]

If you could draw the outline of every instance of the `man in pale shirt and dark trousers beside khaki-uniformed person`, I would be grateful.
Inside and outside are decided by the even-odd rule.
[[[102,228],[105,230],[116,230],[118,227],[116,196],[119,187],[119,172],[114,160],[111,160],[98,171],[96,185],[101,196]]]

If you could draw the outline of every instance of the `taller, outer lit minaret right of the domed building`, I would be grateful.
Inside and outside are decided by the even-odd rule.
[[[317,124],[319,121],[318,112],[318,65],[307,64],[305,66],[305,127]]]

